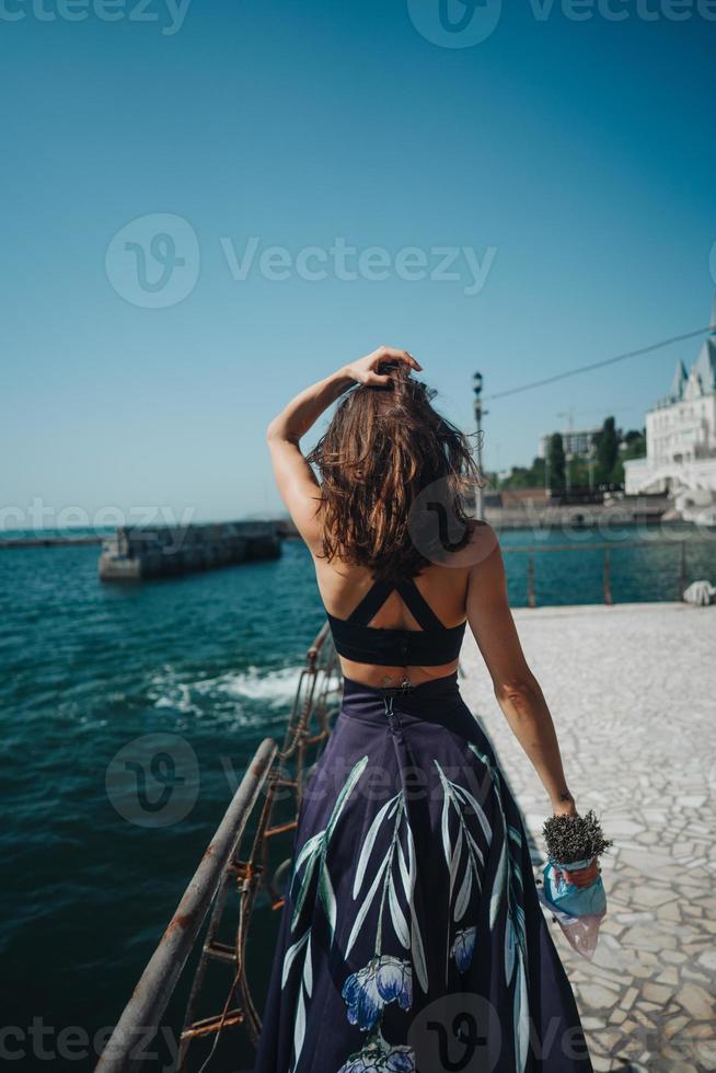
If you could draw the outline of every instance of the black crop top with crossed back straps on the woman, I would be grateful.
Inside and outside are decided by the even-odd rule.
[[[383,628],[368,623],[397,589],[421,630]],[[466,622],[443,626],[432,608],[409,578],[392,585],[373,581],[358,607],[347,619],[326,612],[336,651],[357,664],[381,667],[438,667],[460,655]]]

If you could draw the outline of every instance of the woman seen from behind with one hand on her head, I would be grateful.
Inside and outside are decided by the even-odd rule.
[[[521,815],[460,694],[467,624],[554,812],[575,800],[497,539],[462,507],[469,442],[420,368],[380,347],[268,427],[344,693],[301,804],[255,1070],[587,1073]],[[348,389],[304,457],[301,437]],[[596,866],[573,876],[586,886]]]

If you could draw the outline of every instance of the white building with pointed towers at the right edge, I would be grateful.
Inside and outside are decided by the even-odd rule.
[[[646,415],[646,451],[624,463],[627,495],[669,492],[684,517],[716,504],[716,332]]]

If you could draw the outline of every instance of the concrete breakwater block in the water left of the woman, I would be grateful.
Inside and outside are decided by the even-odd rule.
[[[206,526],[123,526],[102,545],[102,581],[171,577],[258,558],[277,558],[281,536],[273,521]]]

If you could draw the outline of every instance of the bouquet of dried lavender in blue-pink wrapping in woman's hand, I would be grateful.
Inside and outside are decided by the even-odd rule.
[[[588,868],[613,841],[604,838],[591,809],[585,816],[551,816],[542,834],[548,861],[542,869],[540,900],[552,911],[574,949],[591,959],[607,912],[604,885],[599,874],[586,887],[568,881],[568,876]]]

